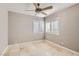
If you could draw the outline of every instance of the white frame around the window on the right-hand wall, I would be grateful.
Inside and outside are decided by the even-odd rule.
[[[55,28],[55,24],[54,24],[54,21],[58,21],[58,31],[55,31],[54,28]],[[47,32],[46,31],[46,23],[49,22],[50,23],[50,32]],[[53,28],[52,28],[52,23],[53,23]],[[52,30],[53,29],[53,30]],[[45,32],[46,33],[49,33],[49,34],[55,34],[55,35],[59,35],[59,31],[60,31],[60,21],[59,21],[59,18],[56,17],[56,18],[53,18],[53,20],[46,20],[45,21]]]

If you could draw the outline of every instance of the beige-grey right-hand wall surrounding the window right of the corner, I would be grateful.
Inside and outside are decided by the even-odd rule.
[[[46,39],[79,51],[79,4],[46,17],[46,21],[56,17],[60,21],[60,34],[46,33]]]

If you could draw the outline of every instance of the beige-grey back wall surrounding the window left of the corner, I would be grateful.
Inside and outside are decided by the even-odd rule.
[[[9,44],[43,39],[43,33],[32,32],[32,21],[42,18],[9,12]]]

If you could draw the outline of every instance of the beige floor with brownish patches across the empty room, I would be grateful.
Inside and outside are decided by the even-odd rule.
[[[9,45],[4,56],[78,56],[72,52],[52,42],[39,40],[25,42],[21,44]]]

